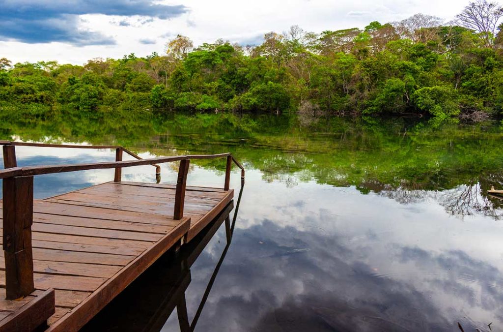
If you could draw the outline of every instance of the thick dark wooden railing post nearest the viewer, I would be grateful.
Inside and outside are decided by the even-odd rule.
[[[4,255],[6,295],[15,300],[32,293],[33,252],[33,176],[5,178],[4,190]]]

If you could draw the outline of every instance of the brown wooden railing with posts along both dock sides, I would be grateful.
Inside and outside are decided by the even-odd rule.
[[[180,220],[184,216],[187,174],[189,172],[191,159],[226,158],[227,163],[223,189],[229,190],[232,163],[236,164],[241,169],[241,185],[244,184],[244,168],[230,153],[142,159],[120,146],[77,146],[10,141],[0,141],[0,145],[3,145],[5,166],[4,170],[0,170],[0,179],[3,179],[3,249],[6,265],[6,297],[9,300],[27,296],[35,290],[31,243],[31,226],[33,224],[33,177],[35,175],[114,168],[114,182],[120,182],[122,168],[152,165],[156,167],[156,179],[158,183],[160,180],[160,166],[158,164],[180,161],[173,213],[173,219],[175,220]],[[116,161],[18,167],[16,146],[116,149]],[[123,152],[126,152],[137,160],[123,161]]]

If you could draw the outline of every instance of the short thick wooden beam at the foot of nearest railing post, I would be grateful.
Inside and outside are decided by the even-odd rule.
[[[31,332],[55,312],[54,290],[46,290],[0,321],[0,332]]]

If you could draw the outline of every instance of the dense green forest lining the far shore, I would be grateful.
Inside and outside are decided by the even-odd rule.
[[[485,119],[503,113],[502,16],[478,0],[449,24],[416,14],[319,34],[293,26],[258,46],[194,47],[179,35],[162,55],[85,65],[2,58],[0,117],[141,110]]]

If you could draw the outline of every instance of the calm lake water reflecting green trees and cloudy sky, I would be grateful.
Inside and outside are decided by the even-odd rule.
[[[503,201],[485,191],[503,189],[497,123],[247,123],[215,115],[0,127],[0,139],[118,143],[144,158],[230,151],[246,168],[230,244],[222,223],[189,267],[163,257],[87,330],[178,331],[169,302],[180,294],[196,331],[455,331],[458,322],[503,330]],[[20,165],[115,157],[29,147],[17,155]],[[223,185],[223,160],[191,164],[189,184]],[[176,171],[163,164],[161,182],[173,183]],[[35,196],[112,178],[113,170],[38,176]],[[123,178],[154,182],[154,168],[124,169]],[[231,187],[235,205],[237,169]],[[188,286],[177,279],[188,274]]]

